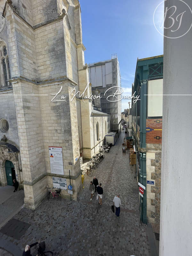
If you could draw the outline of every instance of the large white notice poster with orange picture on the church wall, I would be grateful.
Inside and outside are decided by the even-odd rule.
[[[49,147],[51,173],[64,175],[62,147]]]

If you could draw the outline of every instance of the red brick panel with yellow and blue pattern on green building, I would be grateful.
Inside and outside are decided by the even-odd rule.
[[[162,118],[146,119],[146,143],[162,143]]]

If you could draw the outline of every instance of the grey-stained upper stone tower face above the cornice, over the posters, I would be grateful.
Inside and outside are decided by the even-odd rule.
[[[67,77],[62,20],[35,30],[37,80]]]

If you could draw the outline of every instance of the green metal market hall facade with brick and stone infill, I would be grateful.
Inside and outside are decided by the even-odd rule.
[[[134,84],[132,85],[132,95],[135,92],[135,95],[140,96],[139,98],[140,100],[138,100],[136,103],[133,103],[134,99],[132,99],[132,110],[133,110],[132,134],[133,134],[134,146],[135,146],[136,155],[137,155],[137,161],[136,161],[137,179],[138,179],[138,182],[140,182],[145,187],[143,197],[139,196],[140,197],[140,219],[145,224],[147,224],[148,221],[149,222],[152,221],[152,223],[155,224],[155,222],[157,222],[157,224],[159,225],[158,215],[160,216],[160,209],[158,214],[157,213],[153,214],[153,212],[150,212],[150,208],[152,210],[155,209],[155,211],[158,212],[158,207],[157,208],[155,207],[156,207],[156,201],[159,203],[160,199],[159,199],[159,196],[156,197],[154,189],[156,189],[156,191],[157,190],[159,191],[160,189],[159,188],[160,185],[158,185],[159,180],[157,181],[155,179],[153,181],[150,180],[150,183],[152,184],[154,183],[154,185],[149,187],[147,186],[147,175],[146,175],[146,154],[148,154],[148,156],[155,157],[154,159],[155,161],[156,161],[156,156],[161,156],[156,154],[161,154],[162,116],[153,116],[153,115],[149,116],[149,110],[148,110],[149,103],[150,103],[150,108],[151,106],[153,106],[152,104],[154,104],[153,102],[154,99],[152,99],[151,101],[152,103],[148,101],[149,100],[148,84],[149,84],[149,81],[150,83],[153,83],[153,84],[155,84],[155,82],[156,83],[161,82],[161,80],[158,80],[158,79],[163,80],[163,55],[137,60],[135,79],[134,79]],[[156,90],[158,86],[159,85],[155,87],[154,85],[154,88],[152,88],[152,90]],[[158,103],[157,108],[159,108],[161,111],[160,105],[161,105],[161,102]],[[154,115],[156,115],[155,113],[156,111],[152,110],[152,113],[153,112],[154,112]],[[148,153],[148,152],[151,152],[151,153]],[[151,159],[151,161],[149,159],[148,163],[149,164],[153,163],[153,159]],[[158,166],[158,171],[160,168]],[[150,166],[149,170],[152,170],[152,169],[155,170],[154,172],[156,172],[157,170],[156,166],[155,167]],[[152,175],[149,175],[149,176],[150,176],[149,178],[151,178],[151,176],[153,178],[153,177],[156,177],[157,175],[155,176],[152,173]],[[157,187],[156,187],[156,183],[157,183]],[[149,189],[150,189],[150,192],[148,192]],[[153,191],[154,193],[152,193],[151,191]],[[148,196],[152,197],[151,200],[150,198],[148,199],[148,204],[151,204],[149,209],[147,209],[147,192],[148,192]],[[158,200],[156,200],[154,197]],[[147,211],[148,211],[148,214],[147,214]]]

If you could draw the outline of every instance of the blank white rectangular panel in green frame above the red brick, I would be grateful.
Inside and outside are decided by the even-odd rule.
[[[163,79],[148,81],[148,117],[162,116]],[[153,96],[154,95],[154,96]],[[161,95],[161,96],[156,96]]]

